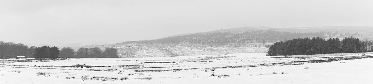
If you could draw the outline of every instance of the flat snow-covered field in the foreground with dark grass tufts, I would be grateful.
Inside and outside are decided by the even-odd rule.
[[[371,53],[303,56],[306,58],[265,55],[0,59],[0,84],[373,83]]]

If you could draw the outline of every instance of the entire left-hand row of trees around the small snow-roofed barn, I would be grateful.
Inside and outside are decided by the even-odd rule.
[[[15,58],[16,56],[25,56],[26,58],[116,58],[117,49],[106,48],[101,50],[100,48],[79,48],[78,51],[74,51],[70,47],[64,47],[59,50],[58,47],[28,47],[22,43],[4,42],[0,41],[0,58]]]

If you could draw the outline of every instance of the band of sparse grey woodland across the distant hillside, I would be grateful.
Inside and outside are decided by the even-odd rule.
[[[274,36],[275,35],[275,36]],[[160,38],[155,40],[126,41],[122,44],[196,44],[196,45],[245,45],[249,43],[272,43],[281,40],[303,37],[345,37],[345,35],[361,36],[360,34],[339,34],[338,32],[291,33],[275,30],[246,31],[243,33],[208,32],[185,36]]]

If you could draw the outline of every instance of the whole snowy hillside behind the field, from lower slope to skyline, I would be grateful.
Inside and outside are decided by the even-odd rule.
[[[293,38],[357,37],[373,39],[373,27],[238,27],[179,34],[154,40],[125,41],[85,47],[116,47],[120,57],[174,57],[211,54],[267,52],[273,43]],[[79,47],[74,47],[75,50]]]

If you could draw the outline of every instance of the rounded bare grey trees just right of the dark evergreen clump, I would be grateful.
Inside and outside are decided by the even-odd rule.
[[[79,48],[78,51],[70,47],[64,47],[60,51],[60,57],[63,58],[117,58],[118,50],[116,48],[106,48],[101,50],[98,47],[94,48]]]

